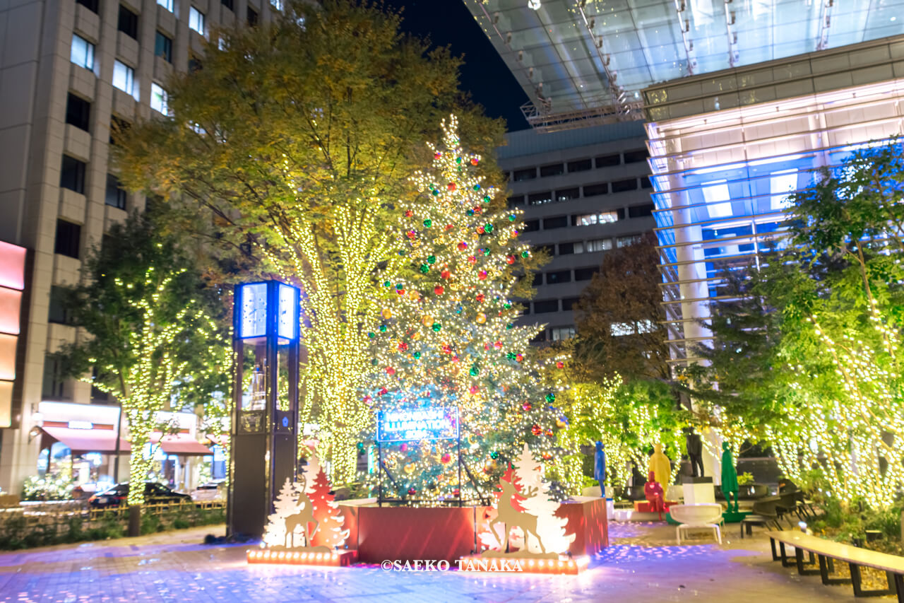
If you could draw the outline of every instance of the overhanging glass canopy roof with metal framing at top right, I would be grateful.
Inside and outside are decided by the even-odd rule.
[[[537,110],[904,34],[904,0],[464,0]],[[534,8],[535,7],[535,8]]]

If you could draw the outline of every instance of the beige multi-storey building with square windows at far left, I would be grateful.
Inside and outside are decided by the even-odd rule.
[[[216,27],[271,18],[266,0],[13,0],[0,5],[0,241],[28,253],[15,378],[0,417],[0,489],[35,474],[42,402],[110,404],[47,355],[78,337],[59,305],[108,227],[145,199],[119,185],[111,129],[166,112],[165,82]],[[5,412],[4,412],[5,411]],[[105,424],[106,425],[106,424]],[[120,472],[122,473],[122,472]]]

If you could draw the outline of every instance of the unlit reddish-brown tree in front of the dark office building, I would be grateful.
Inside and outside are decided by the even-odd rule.
[[[575,306],[572,362],[582,380],[671,378],[662,282],[652,234],[603,256]]]

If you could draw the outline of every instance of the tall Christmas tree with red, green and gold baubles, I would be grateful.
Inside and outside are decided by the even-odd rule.
[[[432,168],[413,178],[420,203],[398,208],[403,251],[387,273],[399,276],[377,292],[384,308],[369,333],[375,373],[365,402],[384,411],[457,407],[460,494],[489,503],[500,467],[523,445],[544,464],[562,456],[556,388],[544,382],[530,345],[541,325],[514,324],[520,308],[513,290],[531,256],[518,242],[520,212],[483,187],[480,157],[462,148],[455,117],[443,134],[441,145],[428,145]],[[395,444],[383,458],[398,496],[419,504],[457,499],[455,441]]]

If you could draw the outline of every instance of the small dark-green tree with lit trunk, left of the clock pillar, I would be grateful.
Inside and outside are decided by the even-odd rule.
[[[222,369],[227,341],[212,319],[219,302],[173,239],[137,213],[94,248],[82,282],[64,303],[88,337],[64,346],[59,358],[66,375],[117,397],[132,445],[128,503],[140,504],[157,411],[170,407],[179,384]]]

